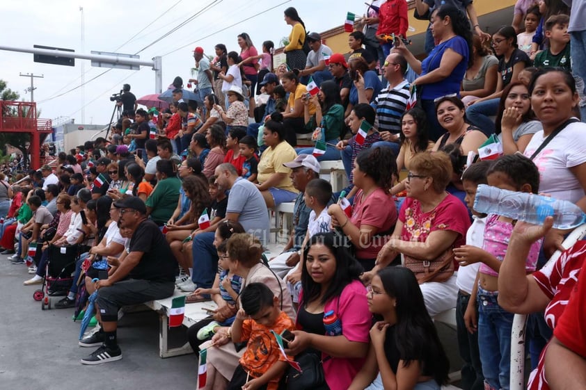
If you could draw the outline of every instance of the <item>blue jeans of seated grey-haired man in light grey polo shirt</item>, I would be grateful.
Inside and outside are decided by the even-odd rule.
[[[211,288],[218,272],[218,252],[214,247],[214,233],[202,233],[193,238],[191,252],[193,254],[191,281],[203,289]]]

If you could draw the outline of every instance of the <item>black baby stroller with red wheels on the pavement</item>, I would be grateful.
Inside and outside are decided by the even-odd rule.
[[[49,260],[45,266],[45,280],[33,299],[41,302],[41,309],[51,309],[51,297],[67,295],[73,283],[75,262],[81,254],[82,245],[49,247]]]

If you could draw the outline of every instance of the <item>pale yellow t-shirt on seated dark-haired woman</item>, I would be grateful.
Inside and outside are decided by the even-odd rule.
[[[295,149],[287,141],[279,143],[276,147],[269,147],[262,152],[260,161],[258,162],[258,183],[263,184],[264,181],[267,181],[271,177],[271,174],[285,173],[285,178],[275,187],[281,190],[291,191],[292,193],[299,193],[289,177],[291,173],[290,168],[283,166],[283,163],[290,163],[296,157]]]

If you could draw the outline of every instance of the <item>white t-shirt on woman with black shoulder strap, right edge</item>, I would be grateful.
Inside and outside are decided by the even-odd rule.
[[[537,131],[525,148],[525,156],[532,156],[546,138],[543,130]],[[539,193],[578,202],[584,197],[584,189],[569,168],[586,163],[586,124],[569,124],[541,149],[533,162],[539,169]]]

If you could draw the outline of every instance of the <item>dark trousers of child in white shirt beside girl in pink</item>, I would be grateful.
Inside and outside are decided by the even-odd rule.
[[[468,390],[483,390],[484,375],[480,363],[480,351],[478,350],[478,332],[470,334],[464,323],[464,313],[468,307],[470,295],[458,293],[456,301],[456,327],[458,337],[458,349],[460,357],[464,360],[462,366],[461,388]],[[478,316],[478,311],[476,312]]]

